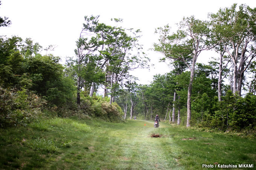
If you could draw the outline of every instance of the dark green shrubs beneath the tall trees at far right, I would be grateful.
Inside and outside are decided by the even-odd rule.
[[[194,123],[200,127],[216,128],[222,131],[252,130],[256,126],[255,100],[254,95],[247,94],[242,98],[228,91],[225,96],[222,96],[222,101],[218,101],[217,97],[212,101],[204,93],[198,105],[197,102],[192,105]]]

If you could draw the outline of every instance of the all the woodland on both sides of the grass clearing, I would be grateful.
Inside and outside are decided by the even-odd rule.
[[[215,130],[255,132],[256,8],[232,5],[207,21],[183,18],[178,30],[155,29],[171,72],[137,84],[131,71],[150,68],[140,30],[85,16],[75,56],[59,63],[31,38],[0,37],[0,125],[26,125],[40,117],[74,116],[152,120]],[[111,19],[113,25],[123,22]],[[11,24],[0,18],[0,29]],[[15,33],[14,33],[15,34]],[[216,52],[215,58],[202,51]],[[153,57],[153,56],[150,56]],[[208,64],[198,57],[209,58]],[[99,95],[99,89],[104,94]]]

